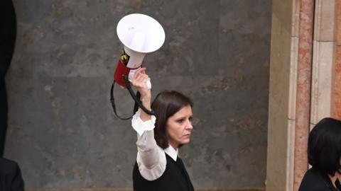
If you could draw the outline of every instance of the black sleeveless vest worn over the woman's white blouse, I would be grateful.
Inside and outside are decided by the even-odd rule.
[[[135,162],[133,170],[134,191],[194,191],[190,177],[180,158],[176,162],[166,154],[166,170],[156,180],[146,180],[142,177],[139,166]]]

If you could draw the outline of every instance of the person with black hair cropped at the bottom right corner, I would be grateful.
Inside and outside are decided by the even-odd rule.
[[[309,134],[308,161],[299,191],[340,191],[341,185],[341,121],[320,120]]]

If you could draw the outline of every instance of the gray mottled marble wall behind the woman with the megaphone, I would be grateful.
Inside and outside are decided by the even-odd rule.
[[[180,156],[195,187],[264,187],[270,0],[13,2],[5,156],[26,187],[131,187],[136,134],[109,105],[116,26],[129,13],[166,30],[144,62],[153,95],[174,89],[194,100],[193,139]],[[129,94],[116,96],[121,115],[131,114]]]

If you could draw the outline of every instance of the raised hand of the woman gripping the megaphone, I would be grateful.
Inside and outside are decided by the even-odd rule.
[[[129,80],[136,87],[137,91],[139,91],[141,98],[151,98],[151,79],[146,74],[146,68],[136,69],[132,75],[132,79],[129,78]],[[150,86],[148,86],[148,83]]]

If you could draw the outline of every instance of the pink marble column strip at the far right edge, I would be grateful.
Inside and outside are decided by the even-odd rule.
[[[341,0],[335,1],[335,57],[332,79],[332,117],[341,119]]]

